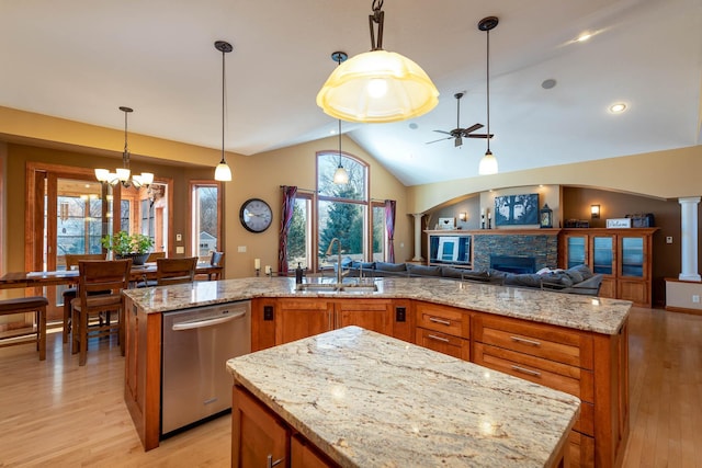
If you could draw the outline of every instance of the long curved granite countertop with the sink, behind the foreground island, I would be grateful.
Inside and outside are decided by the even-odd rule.
[[[127,289],[124,294],[146,313],[256,297],[417,299],[603,334],[619,333],[632,306],[629,300],[453,279],[376,278],[375,284],[377,292],[297,292],[294,278],[251,277]]]

